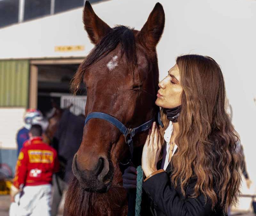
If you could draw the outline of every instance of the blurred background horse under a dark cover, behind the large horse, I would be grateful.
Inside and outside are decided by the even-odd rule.
[[[84,116],[76,116],[67,108],[60,108],[52,100],[52,109],[47,113],[48,127],[44,141],[56,149],[60,170],[52,177],[52,215],[57,215],[63,192],[73,177],[72,160],[83,137]]]

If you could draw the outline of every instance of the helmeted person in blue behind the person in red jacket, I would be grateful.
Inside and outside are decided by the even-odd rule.
[[[36,109],[27,109],[24,115],[24,127],[18,131],[17,134],[17,144],[18,144],[18,153],[23,147],[23,143],[29,139],[28,132],[31,128],[31,124],[38,124],[39,121],[43,120],[43,115],[39,110]],[[42,126],[42,125],[41,125]]]

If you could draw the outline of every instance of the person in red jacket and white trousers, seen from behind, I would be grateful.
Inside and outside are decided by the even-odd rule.
[[[42,141],[42,127],[34,124],[30,143],[20,150],[13,180],[9,215],[51,215],[52,174],[59,170],[57,152]]]

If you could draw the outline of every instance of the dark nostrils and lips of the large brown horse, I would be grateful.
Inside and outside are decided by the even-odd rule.
[[[82,169],[77,163],[77,155],[73,158],[72,170],[82,188],[88,192],[105,193],[108,191],[113,172],[110,172],[111,164],[107,158],[100,157],[94,170]]]

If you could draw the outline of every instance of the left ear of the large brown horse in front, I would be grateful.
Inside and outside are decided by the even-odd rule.
[[[110,31],[110,27],[102,21],[92,9],[89,1],[84,6],[84,29],[93,44],[98,44],[100,40]]]

